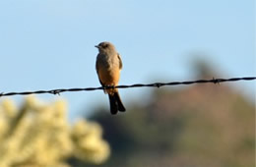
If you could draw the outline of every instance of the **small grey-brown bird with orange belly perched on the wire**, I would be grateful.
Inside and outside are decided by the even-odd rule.
[[[98,54],[96,56],[96,73],[102,86],[115,86],[119,82],[122,60],[110,42],[101,42],[96,45]],[[124,112],[125,107],[121,101],[117,88],[105,89],[108,94],[110,112],[116,114],[118,111]]]

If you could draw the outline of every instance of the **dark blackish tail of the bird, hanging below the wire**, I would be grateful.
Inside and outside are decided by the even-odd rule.
[[[125,111],[125,107],[121,101],[118,91],[114,92],[113,94],[108,94],[108,98],[110,103],[111,114],[116,114],[118,111]]]

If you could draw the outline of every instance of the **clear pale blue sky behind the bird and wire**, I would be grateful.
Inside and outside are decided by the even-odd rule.
[[[120,84],[191,80],[197,58],[224,78],[255,76],[255,1],[1,0],[0,89],[99,86],[94,46],[105,40],[122,55]],[[232,86],[255,95],[255,82]],[[120,93],[129,103],[150,90]],[[108,107],[101,91],[61,97],[69,102],[71,120],[96,105]]]

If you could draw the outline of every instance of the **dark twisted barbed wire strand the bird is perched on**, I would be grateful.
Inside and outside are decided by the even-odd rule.
[[[130,85],[117,85],[117,86],[99,86],[99,87],[86,87],[86,88],[57,88],[50,90],[35,90],[35,91],[22,91],[22,92],[1,92],[0,97],[12,96],[12,95],[29,95],[29,94],[60,94],[61,92],[67,91],[93,91],[99,89],[109,89],[109,88],[131,88],[131,87],[160,87],[164,85],[178,85],[178,84],[194,84],[194,83],[226,83],[226,82],[238,82],[238,81],[253,81],[256,77],[243,77],[243,78],[230,78],[230,79],[215,79],[212,80],[197,80],[188,82],[170,82],[170,83],[136,83]]]

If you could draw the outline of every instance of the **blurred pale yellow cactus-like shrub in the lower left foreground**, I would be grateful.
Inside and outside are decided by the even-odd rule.
[[[78,121],[73,127],[66,119],[66,103],[42,103],[29,96],[18,109],[5,99],[0,103],[1,167],[68,167],[65,160],[77,158],[100,164],[109,153],[96,123]]]

